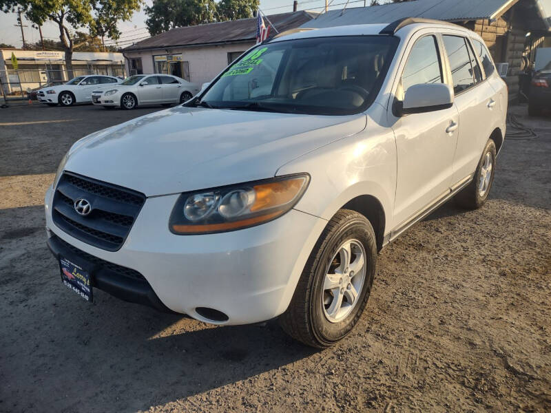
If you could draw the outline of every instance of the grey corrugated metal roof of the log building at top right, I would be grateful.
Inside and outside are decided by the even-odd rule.
[[[518,1],[528,0],[415,0],[404,3],[388,3],[381,6],[330,10],[318,18],[304,23],[302,28],[327,28],[337,25],[392,23],[404,17],[422,17],[444,21],[496,19]],[[541,11],[549,7],[551,0],[530,0]],[[545,21],[546,17],[541,16]]]

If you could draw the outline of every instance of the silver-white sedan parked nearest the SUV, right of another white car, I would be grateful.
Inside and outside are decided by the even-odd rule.
[[[137,74],[116,87],[102,87],[92,92],[92,103],[106,109],[134,109],[138,105],[172,105],[191,99],[199,87],[169,74]]]

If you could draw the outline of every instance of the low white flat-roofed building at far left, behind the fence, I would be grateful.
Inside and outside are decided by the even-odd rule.
[[[17,59],[17,70],[12,63]],[[54,50],[0,49],[0,80],[6,94],[36,89],[50,82],[69,81],[65,52]],[[122,53],[73,52],[73,76],[82,74],[110,74],[124,76]]]

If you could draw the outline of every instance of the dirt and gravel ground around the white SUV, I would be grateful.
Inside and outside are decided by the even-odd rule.
[[[450,202],[380,253],[334,348],[65,288],[43,193],[74,140],[160,108],[0,109],[1,412],[551,410],[551,117],[508,140],[490,200]]]

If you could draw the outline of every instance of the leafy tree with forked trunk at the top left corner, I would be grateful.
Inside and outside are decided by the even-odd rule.
[[[129,20],[134,11],[140,10],[142,3],[143,0],[0,0],[0,8],[6,13],[21,8],[25,17],[35,25],[42,25],[45,21],[56,23],[65,52],[67,73],[72,78],[73,52],[89,43],[88,37],[118,39],[121,36],[116,27],[118,21]],[[90,36],[82,35],[78,29],[87,29]]]

